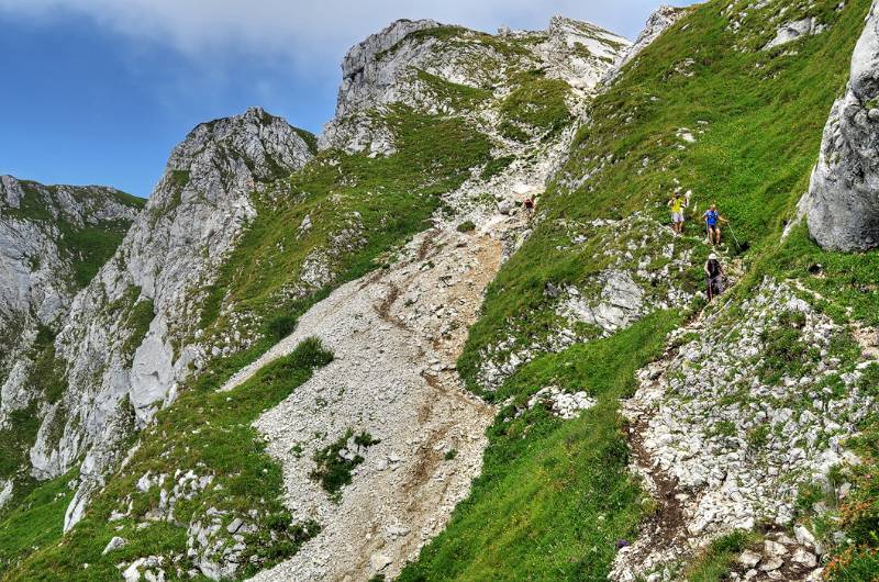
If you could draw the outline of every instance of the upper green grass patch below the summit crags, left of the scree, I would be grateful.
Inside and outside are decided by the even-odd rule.
[[[322,153],[282,183],[281,192],[256,200],[258,217],[205,300],[204,327],[224,327],[224,301],[269,320],[286,313],[283,290],[298,283],[316,249],[325,250],[335,272],[323,282],[327,288],[376,268],[383,253],[426,227],[439,194],[489,159],[486,136],[461,120],[396,107],[385,121],[396,135],[397,154]],[[313,226],[300,232],[305,216]]]

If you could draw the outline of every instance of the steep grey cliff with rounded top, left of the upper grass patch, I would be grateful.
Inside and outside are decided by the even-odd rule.
[[[74,300],[56,339],[69,388],[41,411],[30,455],[33,474],[45,479],[85,454],[66,528],[118,459],[118,444],[202,366],[198,299],[255,215],[251,193],[310,157],[293,127],[260,109],[199,125],[171,153],[116,254]]]

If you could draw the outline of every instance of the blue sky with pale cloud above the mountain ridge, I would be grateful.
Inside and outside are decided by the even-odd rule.
[[[633,38],[658,0],[0,0],[0,174],[146,197],[197,123],[249,105],[312,132],[347,48],[397,18],[553,14]]]

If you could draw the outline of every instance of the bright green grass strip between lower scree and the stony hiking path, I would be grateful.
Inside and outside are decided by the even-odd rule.
[[[619,399],[679,323],[656,313],[608,339],[543,356],[510,379],[497,400],[513,404],[489,429],[470,496],[398,580],[605,580],[616,540],[632,539],[644,513]],[[585,390],[598,404],[569,422],[541,406],[516,417],[516,406],[548,384]]]

